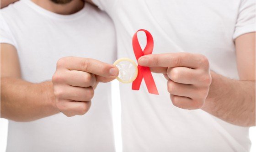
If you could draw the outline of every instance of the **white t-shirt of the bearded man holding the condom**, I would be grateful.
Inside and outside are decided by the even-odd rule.
[[[1,43],[16,47],[22,79],[51,80],[59,58],[77,56],[106,63],[116,59],[111,19],[89,4],[59,15],[21,0],[1,10]],[[113,152],[111,84],[99,84],[91,109],[32,122],[9,121],[7,152]]]

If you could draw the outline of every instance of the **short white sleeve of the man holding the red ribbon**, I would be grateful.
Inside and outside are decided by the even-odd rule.
[[[235,24],[233,39],[255,31],[255,0],[242,0]]]

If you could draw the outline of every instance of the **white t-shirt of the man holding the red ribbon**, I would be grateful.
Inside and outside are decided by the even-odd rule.
[[[118,58],[136,61],[132,37],[146,29],[154,37],[153,53],[201,53],[208,57],[211,70],[239,79],[234,39],[255,31],[255,0],[94,2],[114,21]],[[143,32],[139,40],[145,43]],[[162,74],[153,77],[160,95],[149,94],[144,81],[139,91],[132,90],[132,84],[120,84],[124,152],[249,151],[247,127],[231,125],[203,110],[175,107],[166,79]]]

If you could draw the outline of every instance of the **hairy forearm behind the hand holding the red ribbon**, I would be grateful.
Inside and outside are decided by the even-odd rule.
[[[233,80],[211,72],[206,112],[238,126],[255,126],[255,81]]]

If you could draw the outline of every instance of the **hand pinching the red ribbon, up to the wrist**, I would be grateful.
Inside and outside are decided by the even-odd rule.
[[[138,63],[165,75],[173,105],[188,110],[203,107],[211,84],[205,56],[187,52],[149,54],[140,57]]]

